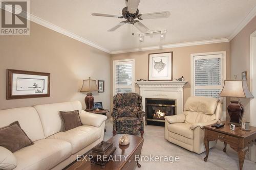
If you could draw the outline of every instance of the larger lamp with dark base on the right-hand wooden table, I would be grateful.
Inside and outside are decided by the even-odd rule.
[[[253,95],[248,89],[246,80],[225,80],[224,87],[219,94],[222,97],[230,97],[230,104],[227,107],[230,116],[230,124],[240,126],[244,106],[238,98],[253,98]]]

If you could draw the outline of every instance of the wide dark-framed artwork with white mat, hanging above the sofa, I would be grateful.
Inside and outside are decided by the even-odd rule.
[[[49,96],[50,73],[7,69],[7,100]]]

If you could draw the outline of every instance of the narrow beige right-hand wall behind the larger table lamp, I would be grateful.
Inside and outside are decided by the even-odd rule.
[[[254,17],[245,28],[230,41],[230,77],[241,79],[243,71],[248,72],[248,85],[250,84],[250,34],[256,30],[256,17]],[[242,99],[245,106],[243,118],[249,119],[250,100]]]

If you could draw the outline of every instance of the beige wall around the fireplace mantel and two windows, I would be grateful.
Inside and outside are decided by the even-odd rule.
[[[111,55],[111,75],[113,75],[113,60],[135,59],[135,80],[142,78],[147,80],[148,54],[160,52],[173,52],[173,78],[180,78],[181,76],[184,76],[185,80],[188,81],[188,84],[186,84],[184,87],[185,102],[186,99],[190,96],[190,54],[218,51],[226,51],[226,77],[227,79],[229,79],[229,42]],[[111,77],[111,87],[113,87],[113,76]],[[111,91],[113,95],[113,89],[111,89]],[[139,93],[139,87],[137,85],[135,85],[135,92]]]

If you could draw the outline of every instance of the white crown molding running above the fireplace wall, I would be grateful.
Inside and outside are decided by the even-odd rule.
[[[112,51],[111,54],[141,52],[141,51],[148,51],[148,50],[160,50],[160,49],[164,49],[164,48],[174,48],[174,47],[184,47],[184,46],[193,46],[193,45],[214,44],[214,43],[222,43],[222,42],[229,42],[229,40],[227,38],[221,38],[221,39],[212,39],[212,40],[204,40],[204,41],[193,41],[193,42],[183,42],[183,43],[176,43],[176,44],[147,46],[147,47],[140,47],[140,48],[132,48],[132,49],[128,49],[128,50]]]

